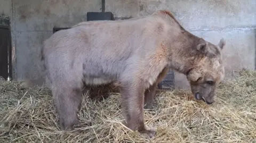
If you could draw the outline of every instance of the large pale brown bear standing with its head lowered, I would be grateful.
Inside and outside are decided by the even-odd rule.
[[[186,31],[169,11],[118,21],[88,21],[55,32],[42,48],[43,71],[61,129],[78,124],[84,85],[116,82],[126,126],[147,133],[143,107],[152,108],[157,83],[169,69],[183,73],[197,99],[213,102],[223,79],[221,50]]]

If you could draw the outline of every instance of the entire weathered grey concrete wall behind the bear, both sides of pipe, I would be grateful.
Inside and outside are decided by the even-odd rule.
[[[39,47],[52,35],[54,26],[71,27],[86,21],[87,12],[101,11],[100,0],[1,1],[10,6],[3,10],[13,13],[17,80],[38,76]],[[227,40],[223,50],[227,78],[233,70],[255,68],[255,0],[106,0],[106,11],[113,12],[116,19],[148,15],[161,9],[170,10],[188,31],[213,44],[218,44],[222,37]],[[175,73],[175,86],[187,88],[185,76]]]

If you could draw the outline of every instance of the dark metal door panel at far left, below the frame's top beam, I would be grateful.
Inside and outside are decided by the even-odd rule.
[[[0,76],[5,80],[8,78],[9,32],[9,27],[0,26]]]

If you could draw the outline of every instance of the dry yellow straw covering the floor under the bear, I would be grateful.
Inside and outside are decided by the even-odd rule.
[[[0,142],[256,142],[256,72],[242,71],[222,83],[216,103],[196,102],[189,90],[161,91],[145,111],[149,140],[121,124],[119,94],[94,100],[83,96],[82,133],[59,131],[50,91],[21,89],[0,81]]]

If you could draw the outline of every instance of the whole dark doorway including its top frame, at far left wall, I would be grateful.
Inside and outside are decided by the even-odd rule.
[[[0,17],[0,77],[12,79],[10,20]]]

